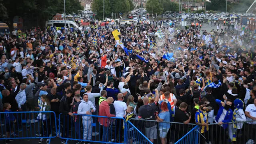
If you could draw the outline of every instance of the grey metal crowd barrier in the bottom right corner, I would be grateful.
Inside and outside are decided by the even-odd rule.
[[[228,122],[222,125],[209,124],[209,130],[198,129],[198,143],[211,144],[255,144],[256,121]],[[201,131],[202,130],[202,131]],[[204,131],[204,132],[203,132]]]

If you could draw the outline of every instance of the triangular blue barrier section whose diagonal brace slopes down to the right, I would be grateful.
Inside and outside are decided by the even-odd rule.
[[[153,144],[138,128],[136,128],[130,121],[127,121],[126,123],[126,138],[125,141],[126,144],[132,144],[133,142],[136,142],[137,144]]]

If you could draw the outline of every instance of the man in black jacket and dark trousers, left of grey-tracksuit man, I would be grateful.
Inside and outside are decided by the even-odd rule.
[[[62,96],[60,100],[60,113],[62,113],[62,115],[60,116],[60,121],[64,125],[64,132],[62,133],[64,133],[65,138],[67,138],[68,136],[68,129],[70,130],[71,128],[71,124],[70,124],[71,120],[68,120],[70,119],[68,115],[74,116],[72,112],[69,112],[70,103],[68,98],[70,98],[72,94],[73,94],[73,91],[71,89],[68,89],[66,92],[66,95]],[[66,143],[66,140],[62,140],[61,143]]]

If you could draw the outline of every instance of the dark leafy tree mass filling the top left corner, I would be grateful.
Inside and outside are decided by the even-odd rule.
[[[78,10],[82,9],[78,0],[66,0],[67,13],[78,13]],[[44,28],[46,20],[52,19],[56,13],[63,12],[63,0],[2,0],[0,2],[0,20],[8,25],[10,32],[13,30],[14,16],[37,18],[38,24]]]

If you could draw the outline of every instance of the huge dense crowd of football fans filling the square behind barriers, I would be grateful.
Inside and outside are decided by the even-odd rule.
[[[13,128],[22,115],[8,112],[53,111],[57,117],[63,114],[63,136],[72,126],[68,119],[86,115],[82,116],[83,140],[99,134],[92,128],[96,121],[101,140],[110,140],[112,122],[96,116],[116,117],[119,138],[115,142],[123,141],[120,127],[131,119],[155,121],[145,124],[143,132],[151,142],[159,135],[162,144],[184,135],[172,138],[180,130],[168,122],[197,124],[200,136],[205,136],[200,143],[210,144],[206,136],[209,124],[218,124],[216,140],[225,143],[238,138],[238,134],[223,137],[229,129],[226,123],[247,120],[244,127],[250,133],[246,140],[255,138],[256,122],[250,120],[256,120],[256,34],[165,27],[162,21],[115,28],[118,36],[108,26],[69,34],[38,27],[0,36],[0,111],[5,112],[1,121],[7,125],[5,137],[22,132]],[[159,29],[162,34],[156,36]],[[26,117],[26,124],[40,122],[40,136],[45,126],[52,129],[47,124],[52,118],[54,115],[39,113]],[[73,125],[79,131],[80,125]],[[242,131],[243,125],[234,125],[237,132]],[[6,144],[11,140],[5,140]],[[43,141],[41,138],[39,143]],[[130,138],[128,143],[136,143],[136,139]]]

